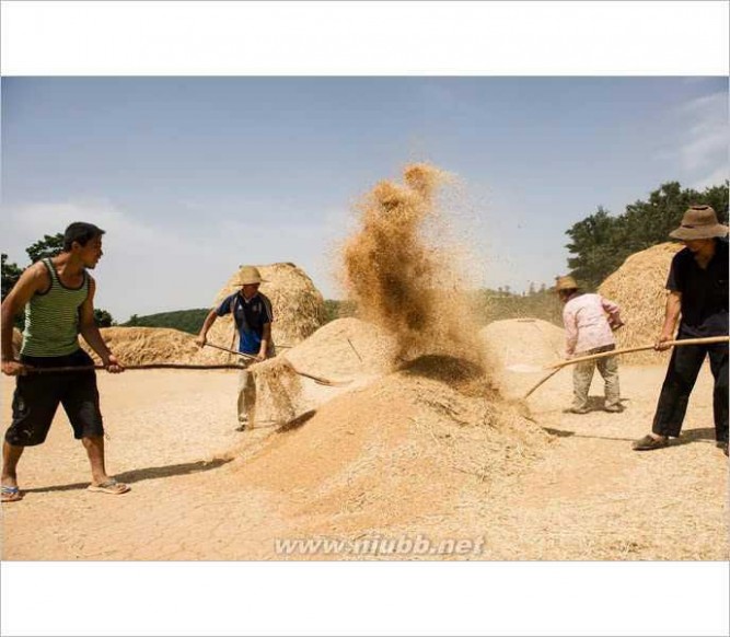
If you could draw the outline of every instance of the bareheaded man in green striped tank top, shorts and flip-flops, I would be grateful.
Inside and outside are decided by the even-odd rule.
[[[104,231],[91,223],[71,223],[63,235],[63,252],[30,266],[2,302],[2,372],[16,377],[13,421],[2,445],[2,501],[22,498],[18,462],[26,447],[48,435],[58,405],[63,405],[73,436],[81,440],[91,464],[89,490],[124,494],[129,490],[106,474],[104,426],[96,374],[89,369],[34,373],[34,369],[88,367],[91,357],[79,346],[79,334],[99,355],[107,371],[124,367],[104,343],[94,322],[93,269],[102,257]],[[20,360],[13,358],[13,320],[25,310]]]

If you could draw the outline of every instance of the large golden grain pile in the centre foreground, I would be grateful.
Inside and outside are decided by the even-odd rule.
[[[306,535],[422,533],[542,455],[549,437],[517,409],[421,367],[339,395],[280,429],[239,465],[241,483],[290,495]],[[476,367],[465,373],[480,374]]]

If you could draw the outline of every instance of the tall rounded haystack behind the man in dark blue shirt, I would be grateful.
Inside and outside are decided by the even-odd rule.
[[[262,283],[260,292],[270,299],[274,308],[271,335],[276,345],[297,345],[322,326],[324,299],[304,270],[291,263],[256,267],[266,281]],[[233,273],[218,292],[212,306],[241,289],[241,286],[235,285],[237,280],[239,270]],[[235,326],[230,314],[216,321],[208,332],[208,340],[229,349],[237,348]],[[206,348],[196,361],[220,363],[232,362],[233,358],[235,357]]]

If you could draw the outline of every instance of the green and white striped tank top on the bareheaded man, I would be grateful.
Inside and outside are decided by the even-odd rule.
[[[25,356],[67,356],[79,349],[79,306],[89,296],[89,275],[84,270],[79,288],[67,288],[49,258],[43,264],[50,275],[50,288],[37,292],[25,305],[25,331],[21,354]]]

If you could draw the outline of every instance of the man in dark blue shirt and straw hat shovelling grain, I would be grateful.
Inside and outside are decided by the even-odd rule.
[[[274,311],[271,301],[258,291],[259,286],[266,282],[262,279],[258,268],[243,266],[239,270],[237,281],[234,283],[241,289],[223,299],[222,303],[211,310],[206,316],[196,343],[204,347],[208,329],[219,316],[232,314],[239,332],[239,351],[254,357],[244,363],[239,378],[239,431],[253,428],[256,407],[256,379],[246,368],[274,356],[271,341],[271,323]]]

